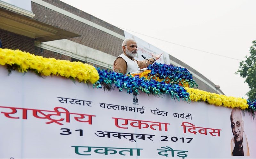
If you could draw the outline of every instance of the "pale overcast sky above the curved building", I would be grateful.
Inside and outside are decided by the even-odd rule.
[[[256,0],[61,1],[178,58],[220,85],[225,95],[247,98],[249,87],[235,72],[256,40]]]

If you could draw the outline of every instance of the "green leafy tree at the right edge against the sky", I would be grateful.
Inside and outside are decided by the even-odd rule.
[[[245,78],[244,83],[248,83],[250,88],[249,92],[246,93],[250,100],[256,99],[256,40],[252,42],[250,48],[250,56],[245,56],[246,60],[240,62],[240,66],[236,74],[240,74],[241,77]]]

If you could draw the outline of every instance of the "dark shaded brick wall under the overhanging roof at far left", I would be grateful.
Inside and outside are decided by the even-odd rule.
[[[19,49],[29,53],[35,52],[35,40],[33,38],[0,29],[0,39],[3,49]]]

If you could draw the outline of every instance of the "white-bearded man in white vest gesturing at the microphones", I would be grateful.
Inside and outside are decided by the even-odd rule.
[[[148,67],[148,64],[152,64],[152,62],[155,62],[163,54],[162,53],[154,55],[152,53],[152,58],[148,59],[152,62],[147,62],[146,60],[135,60],[133,57],[137,56],[138,46],[136,41],[132,38],[124,39],[122,49],[124,53],[116,58],[114,62],[114,71],[123,74],[128,74],[129,72],[136,72],[140,69],[146,68]]]

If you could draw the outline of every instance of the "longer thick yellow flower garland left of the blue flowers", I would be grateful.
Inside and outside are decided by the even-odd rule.
[[[99,74],[92,65],[44,58],[20,50],[0,49],[0,64],[20,72],[33,70],[44,76],[60,75],[77,79],[79,82],[95,83],[99,79]]]

